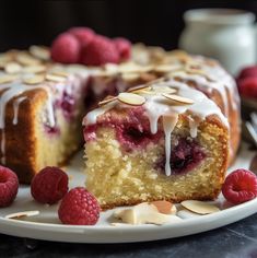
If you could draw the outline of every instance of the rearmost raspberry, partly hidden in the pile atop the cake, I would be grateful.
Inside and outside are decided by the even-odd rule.
[[[72,27],[68,33],[75,36],[82,47],[87,46],[95,36],[94,31],[89,27]]]

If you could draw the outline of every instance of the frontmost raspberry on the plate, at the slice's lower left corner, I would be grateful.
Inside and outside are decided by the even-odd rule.
[[[62,199],[58,215],[63,224],[94,225],[100,218],[100,204],[83,187],[70,190]]]

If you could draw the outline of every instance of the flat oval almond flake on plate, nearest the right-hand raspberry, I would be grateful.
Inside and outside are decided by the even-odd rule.
[[[203,201],[186,200],[180,203],[184,208],[198,214],[210,214],[220,211],[217,206]]]

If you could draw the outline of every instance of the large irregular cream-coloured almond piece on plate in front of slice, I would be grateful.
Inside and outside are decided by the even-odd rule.
[[[178,216],[160,213],[155,206],[148,202],[142,202],[130,209],[116,211],[114,216],[129,224],[162,225],[167,222],[182,221],[182,219]]]

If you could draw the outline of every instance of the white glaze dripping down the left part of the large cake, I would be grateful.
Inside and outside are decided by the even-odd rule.
[[[44,90],[47,93],[47,99],[45,104],[45,108],[42,110],[42,119],[43,122],[50,128],[56,126],[55,120],[55,102],[56,99],[62,96],[63,91],[67,93],[80,94],[80,91],[77,89],[81,89],[81,84],[83,81],[89,78],[89,70],[82,69],[78,66],[51,66],[48,69],[48,72],[58,72],[66,71],[68,73],[66,80],[63,82],[50,82],[44,80],[42,83],[35,85],[27,85],[23,82],[24,78],[34,77],[32,73],[20,73],[16,74],[15,80],[10,83],[0,84],[0,153],[1,153],[1,164],[5,164],[5,109],[9,102],[13,98],[13,126],[19,124],[19,108],[20,104],[24,102],[27,96],[26,93],[33,90]],[[74,75],[77,74],[77,75]],[[0,72],[0,77],[5,75],[4,72]]]

